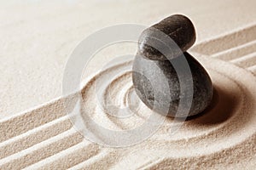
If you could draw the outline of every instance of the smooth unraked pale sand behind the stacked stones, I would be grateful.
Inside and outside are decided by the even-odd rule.
[[[79,42],[103,27],[122,23],[150,26],[170,14],[185,14],[195,24],[196,43],[201,43],[252,26],[256,17],[254,6],[254,0],[2,2],[1,117],[60,97],[68,57]],[[119,54],[124,53],[119,49]],[[111,58],[111,54],[105,58]]]

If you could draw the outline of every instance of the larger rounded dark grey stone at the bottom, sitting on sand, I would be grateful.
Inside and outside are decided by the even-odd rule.
[[[191,70],[193,96],[186,96],[180,93],[177,71],[175,71],[169,60],[150,60],[142,56],[136,56],[132,68],[133,85],[139,98],[150,109],[166,115],[165,107],[167,106],[167,116],[176,116],[180,99],[189,99],[191,97],[193,100],[189,116],[194,116],[204,111],[210,104],[213,87],[207,71],[190,54],[184,53],[184,56]],[[179,56],[172,61],[177,61],[176,63],[178,63],[178,59],[182,59],[182,57]],[[183,77],[185,75],[189,74],[183,72]],[[164,83],[165,81],[166,83]],[[158,95],[157,101],[154,101],[155,95]],[[154,102],[157,105],[156,107],[154,107]],[[182,115],[179,116],[182,117]]]

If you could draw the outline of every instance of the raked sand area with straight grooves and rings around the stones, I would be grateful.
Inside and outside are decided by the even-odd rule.
[[[215,95],[207,114],[185,122],[175,135],[169,135],[173,120],[168,118],[157,133],[141,144],[113,149],[91,143],[74,129],[66,114],[64,103],[73,98],[68,96],[0,121],[0,169],[230,168],[230,165],[232,169],[253,169],[256,161],[256,78],[249,71],[256,74],[255,31],[255,25],[247,26],[193,48],[196,52],[193,54],[212,77]],[[131,62],[117,66],[125,65]],[[116,68],[113,66],[111,71]],[[108,74],[109,71],[102,71],[100,75]],[[127,105],[125,102],[133,95],[131,72],[123,72],[114,80],[109,82],[113,88],[105,90],[113,91],[113,99]],[[85,83],[82,94],[84,106],[90,107],[87,112],[91,111],[96,122],[122,130],[145,120],[147,116],[143,113],[147,108],[143,105],[142,112],[138,111],[137,117],[127,122],[101,116],[104,112],[90,102],[95,96],[91,88],[95,83],[94,78]],[[125,90],[120,92],[125,84]],[[103,98],[105,102],[108,97]]]

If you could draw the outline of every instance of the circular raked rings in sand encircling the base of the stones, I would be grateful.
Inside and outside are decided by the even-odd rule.
[[[201,116],[185,122],[173,135],[168,130],[172,119],[166,118],[163,127],[145,142],[148,143],[149,148],[180,151],[181,148],[177,147],[180,145],[187,148],[180,151],[180,156],[198,153],[208,155],[235,147],[236,144],[241,144],[255,134],[256,107],[253,105],[256,103],[256,89],[253,86],[256,83],[255,77],[241,68],[218,59],[206,59],[200,56],[197,59],[206,66],[214,83],[215,96],[212,106]],[[109,129],[124,130],[137,127],[148,118],[148,114],[151,114],[134,93],[131,72],[124,71],[111,81],[109,79],[108,82],[106,81],[106,77],[113,77],[115,72],[119,72],[119,68],[127,65],[132,65],[132,62],[120,63],[102,71],[91,79],[90,83],[85,84],[82,90],[84,108],[90,108],[87,113],[95,122]],[[100,84],[104,84],[101,92],[102,102],[108,103],[109,99],[113,99],[119,105],[129,106],[131,101],[136,100],[135,103],[139,105],[133,110],[134,114],[119,119],[109,116],[108,109],[102,110],[97,104],[96,79],[101,82]],[[125,84],[129,85],[125,87]],[[186,150],[190,150],[190,153],[186,153]]]

